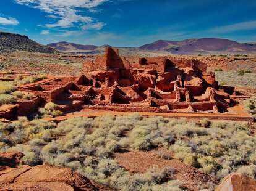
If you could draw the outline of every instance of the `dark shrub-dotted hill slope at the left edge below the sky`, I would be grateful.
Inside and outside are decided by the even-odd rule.
[[[44,46],[30,40],[27,36],[0,32],[0,52],[9,51],[29,51],[40,53],[58,52],[49,46]]]

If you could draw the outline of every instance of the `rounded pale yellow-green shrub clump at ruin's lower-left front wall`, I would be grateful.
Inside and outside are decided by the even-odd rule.
[[[45,107],[40,108],[39,112],[41,113],[43,118],[56,117],[62,115],[62,112],[58,110],[58,105],[52,102],[45,104]]]

